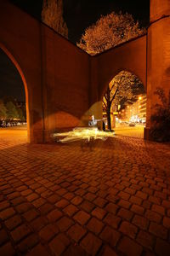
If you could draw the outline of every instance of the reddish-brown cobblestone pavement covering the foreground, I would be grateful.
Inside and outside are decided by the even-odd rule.
[[[170,255],[169,144],[0,149],[0,255]]]

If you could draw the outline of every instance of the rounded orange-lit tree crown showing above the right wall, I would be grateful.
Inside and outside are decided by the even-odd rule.
[[[144,33],[145,29],[139,27],[139,22],[135,22],[132,15],[112,12],[89,26],[77,46],[90,55],[97,55]]]

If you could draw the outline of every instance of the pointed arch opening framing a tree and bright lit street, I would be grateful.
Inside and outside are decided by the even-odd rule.
[[[144,137],[146,92],[134,73],[122,70],[106,86],[102,98],[104,129],[117,135]]]

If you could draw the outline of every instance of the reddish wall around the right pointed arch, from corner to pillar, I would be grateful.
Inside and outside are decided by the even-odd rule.
[[[144,84],[147,77],[147,35],[109,49],[91,59],[90,113],[101,119],[101,101],[111,79],[122,70],[135,74]]]

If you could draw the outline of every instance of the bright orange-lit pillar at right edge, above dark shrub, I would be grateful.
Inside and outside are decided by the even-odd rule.
[[[145,138],[150,138],[150,115],[159,102],[154,94],[161,87],[170,90],[170,2],[150,0],[150,27],[147,43],[147,113]]]

